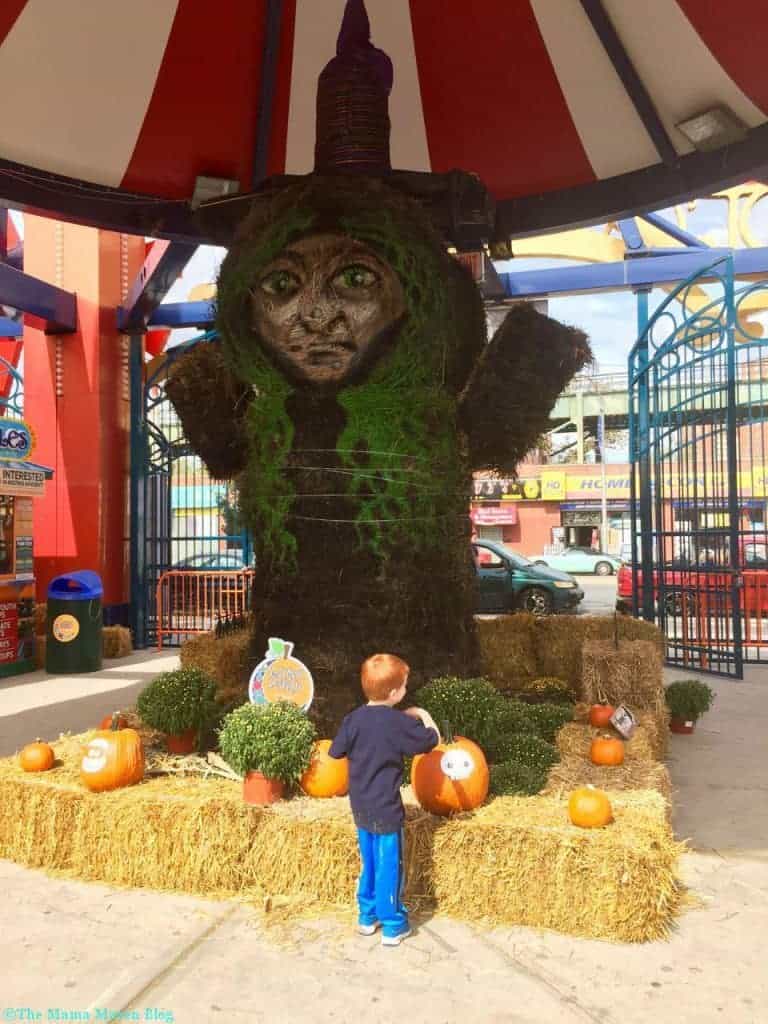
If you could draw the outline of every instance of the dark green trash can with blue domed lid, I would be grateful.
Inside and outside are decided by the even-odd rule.
[[[101,597],[97,572],[67,572],[48,585],[45,671],[57,675],[101,668]]]

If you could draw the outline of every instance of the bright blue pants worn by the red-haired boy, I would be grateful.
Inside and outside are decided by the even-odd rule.
[[[359,924],[375,925],[378,921],[386,936],[408,931],[408,910],[402,905],[404,886],[402,831],[376,833],[357,829],[362,870],[357,884]]]

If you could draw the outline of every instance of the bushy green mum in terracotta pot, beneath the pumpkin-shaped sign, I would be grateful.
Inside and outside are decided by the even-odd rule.
[[[314,725],[295,705],[243,705],[219,730],[224,761],[243,775],[248,804],[272,804],[309,767]]]

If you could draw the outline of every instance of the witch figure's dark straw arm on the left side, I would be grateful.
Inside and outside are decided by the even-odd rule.
[[[228,480],[242,472],[248,455],[245,417],[253,391],[227,369],[220,345],[199,344],[174,362],[166,393],[211,476]]]

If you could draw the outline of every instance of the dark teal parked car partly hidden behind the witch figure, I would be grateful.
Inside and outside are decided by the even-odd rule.
[[[584,591],[567,572],[535,565],[501,544],[474,541],[472,555],[477,570],[476,610],[481,614],[574,611],[584,599]]]

